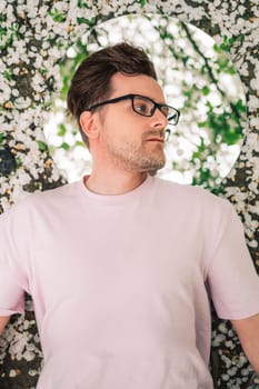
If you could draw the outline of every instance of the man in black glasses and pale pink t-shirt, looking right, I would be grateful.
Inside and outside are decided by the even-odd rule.
[[[259,282],[232,207],[155,178],[166,104],[152,63],[121,43],[78,68],[68,107],[92,154],[80,182],[0,218],[0,316],[34,300],[38,389],[211,389],[210,306],[259,372]]]

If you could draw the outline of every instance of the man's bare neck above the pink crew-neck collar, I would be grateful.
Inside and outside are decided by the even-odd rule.
[[[113,171],[98,173],[93,170],[91,176],[84,181],[86,187],[98,194],[123,194],[139,187],[147,178],[148,173],[130,173]]]

